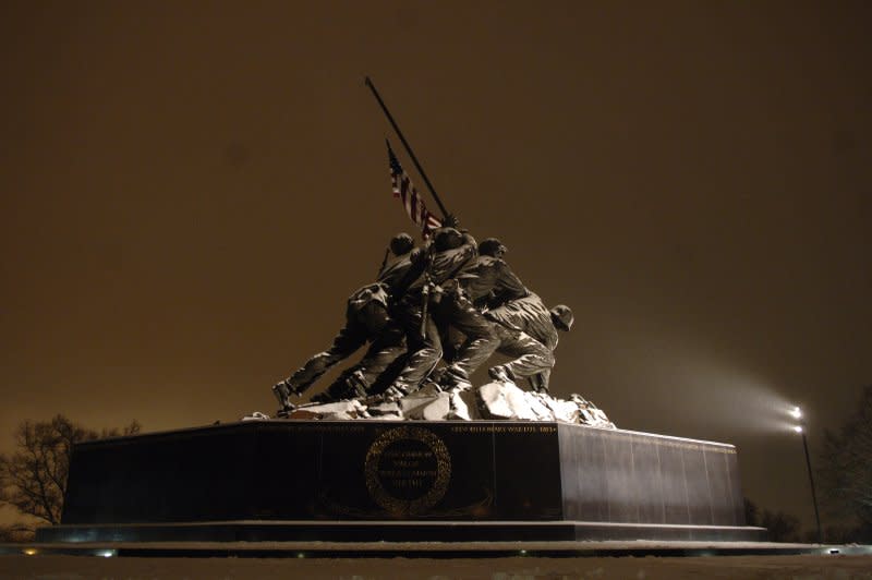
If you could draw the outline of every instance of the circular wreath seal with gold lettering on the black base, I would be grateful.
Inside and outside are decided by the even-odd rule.
[[[451,457],[432,431],[402,426],[379,435],[366,452],[366,488],[395,517],[420,516],[448,490]]]

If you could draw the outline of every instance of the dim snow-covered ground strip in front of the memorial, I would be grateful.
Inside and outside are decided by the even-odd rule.
[[[689,558],[99,558],[0,556],[0,579],[870,579],[872,556],[711,556]]]

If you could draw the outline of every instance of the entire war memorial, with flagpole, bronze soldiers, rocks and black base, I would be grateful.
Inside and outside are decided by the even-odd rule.
[[[571,310],[529,290],[499,240],[462,229],[366,85],[441,217],[388,144],[422,242],[390,240],[332,345],[272,387],[277,416],[77,444],[62,523],[37,541],[763,540],[734,446],[618,430],[581,396],[549,395]],[[507,362],[487,367],[495,352]]]

